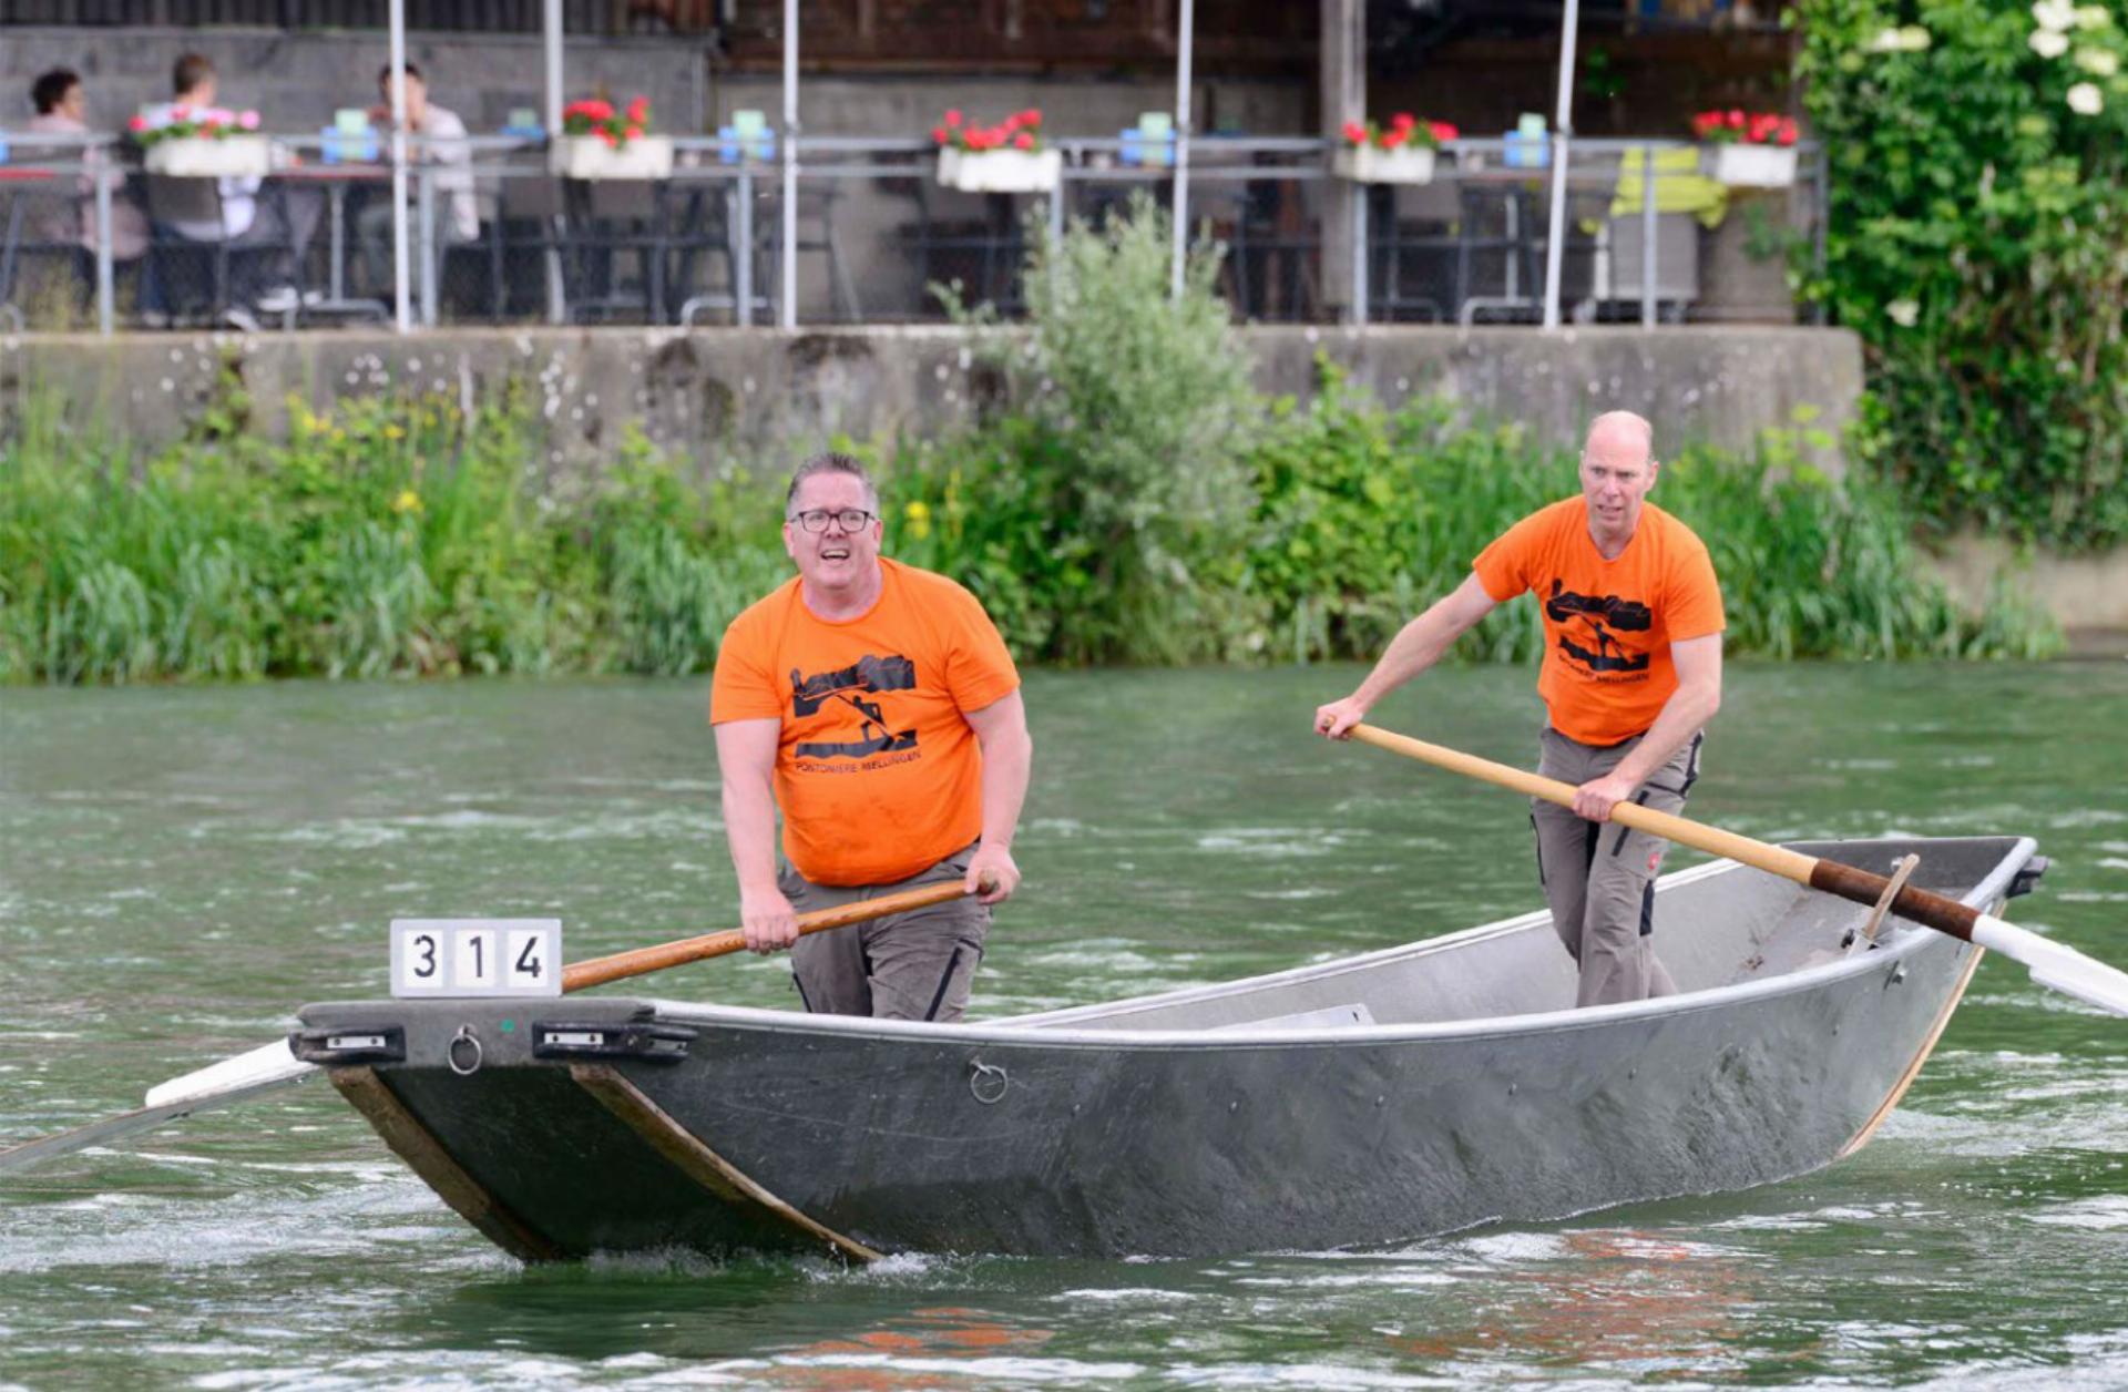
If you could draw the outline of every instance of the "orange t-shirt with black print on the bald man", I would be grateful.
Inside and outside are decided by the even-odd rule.
[[[1470,562],[1504,604],[1534,590],[1545,607],[1536,694],[1551,728],[1583,745],[1641,734],[1677,690],[1670,643],[1722,632],[1722,585],[1707,545],[1653,502],[1632,541],[1605,560],[1587,502],[1566,498],[1502,532]]]

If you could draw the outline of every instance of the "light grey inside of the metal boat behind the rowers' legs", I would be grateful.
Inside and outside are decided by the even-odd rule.
[[[2036,849],[2019,836],[1796,841],[1790,849],[1892,875],[1913,854],[1909,883],[1983,909],[2022,894]],[[2043,862],[2041,862],[2043,864]],[[1679,996],[1745,985],[1873,949],[1873,909],[1764,871],[1713,862],[1656,881],[1656,947]],[[1932,930],[1885,915],[1875,943]],[[1073,1030],[1224,1030],[1449,1024],[1566,1011],[1575,964],[1545,911],[1358,958],[1245,981],[1000,1020]]]

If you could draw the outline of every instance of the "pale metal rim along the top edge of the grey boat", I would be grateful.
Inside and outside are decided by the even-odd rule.
[[[1951,836],[1945,836],[1949,841]],[[1992,836],[1956,836],[1958,841],[1985,841]],[[1858,839],[1860,841],[1860,839]],[[1928,836],[1885,836],[1866,841],[1928,841]],[[1983,907],[2002,898],[2009,892],[2011,881],[2017,877],[2032,856],[2039,854],[2039,843],[2032,836],[2017,836],[2009,851],[2005,851],[1996,866],[1971,890],[1960,896],[1960,902],[1971,907]],[[1664,881],[1694,883],[1696,879],[1707,879],[1713,875],[1749,871],[1734,860],[1711,860],[1700,866],[1690,866],[1677,871],[1675,875],[1664,875]],[[1398,947],[1385,947],[1370,954],[1360,954],[1353,958],[1336,958],[1332,962],[1315,962],[1309,966],[1285,968],[1279,973],[1268,973],[1262,977],[1243,977],[1241,981],[1224,981],[1217,985],[1181,988],[1179,992],[1162,992],[1153,996],[1126,996],[1113,1005],[1128,1002],[1153,1002],[1153,1000],[1179,1000],[1192,998],[1194,992],[1226,992],[1245,985],[1264,985],[1281,979],[1309,979],[1341,975],[1345,971],[1358,971],[1362,966],[1373,966],[1385,960],[1396,960],[1398,956],[1422,956],[1428,951],[1445,951],[1449,947],[1466,947],[1473,943],[1487,941],[1492,937],[1507,937],[1509,932],[1528,930],[1532,924],[1549,922],[1545,909],[1532,913],[1522,913],[1511,919],[1496,919],[1492,924],[1477,924],[1473,928],[1462,928],[1436,939],[1422,939],[1417,943],[1402,943]],[[1843,977],[1860,977],[1875,973],[1877,968],[1898,962],[1915,951],[1922,951],[1939,934],[1924,926],[1913,926],[1900,922],[1898,934],[1892,941],[1879,939],[1875,949],[1858,951],[1851,956],[1836,958],[1832,962],[1819,962],[1815,966],[1805,966],[1798,971],[1781,973],[1777,977],[1766,977],[1762,981],[1732,981],[1728,985],[1713,985],[1698,992],[1679,992],[1675,996],[1660,996],[1653,1000],[1622,1000],[1615,1005],[1590,1005],[1590,1007],[1568,1007],[1558,1011],[1530,1011],[1524,1015],[1483,1015],[1477,1020],[1445,1020],[1445,1022],[1419,1022],[1419,1024],[1347,1024],[1347,1026],[1319,1026],[1319,1028],[1296,1028],[1296,1030],[1251,1030],[1247,1024],[1213,1026],[1200,1030],[1096,1030],[1096,1028],[1049,1028],[1049,1026],[1028,1026],[1026,1020],[1041,1020],[1043,1011],[1036,1015],[1007,1017],[1007,1020],[975,1020],[955,1024],[936,1024],[926,1020],[872,1020],[866,1015],[800,1015],[794,1011],[760,1009],[749,1005],[706,1005],[687,1000],[666,1000],[653,996],[638,996],[641,1005],[653,1009],[662,1020],[672,1020],[681,1024],[702,1022],[734,1030],[760,1030],[777,1034],[855,1034],[872,1039],[892,1039],[904,1043],[934,1041],[934,1043],[1013,1043],[1013,1045],[1058,1045],[1070,1049],[1226,1049],[1238,1051],[1251,1045],[1277,1045],[1277,1047],[1334,1047],[1334,1045],[1387,1045],[1387,1043],[1441,1043],[1460,1039],[1500,1039],[1513,1034],[1545,1034],[1564,1030],[1592,1030],[1609,1024],[1632,1024],[1647,1017],[1662,1015],[1690,1015],[1711,1009],[1726,1009],[1730,1005],[1756,1002],[1760,998],[1783,996],[1794,992],[1819,990],[1832,985]],[[1087,1009],[1087,1007],[1068,1007]]]

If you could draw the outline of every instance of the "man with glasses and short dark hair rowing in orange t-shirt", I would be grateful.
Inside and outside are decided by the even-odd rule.
[[[798,575],[732,619],[711,683],[724,826],[747,947],[792,949],[809,1011],[960,1020],[990,907],[1019,885],[1034,743],[981,602],[881,558],[883,532],[849,455],[792,475],[783,549]],[[938,881],[990,888],[798,937],[798,913]]]

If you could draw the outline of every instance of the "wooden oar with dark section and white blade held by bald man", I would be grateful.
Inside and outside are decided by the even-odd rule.
[[[1519,794],[1543,798],[1545,802],[1558,802],[1560,807],[1575,805],[1575,790],[1570,785],[1560,783],[1558,779],[1524,773],[1522,768],[1511,768],[1507,764],[1494,764],[1492,760],[1481,760],[1475,753],[1428,745],[1422,739],[1394,734],[1368,724],[1353,726],[1351,736],[1375,745],[1377,749],[1402,753],[1407,758],[1434,764],[1436,768],[1462,773],[1483,783],[1511,788]],[[1768,875],[1779,875],[1781,879],[1792,879],[1798,885],[1836,894],[1858,905],[1875,905],[1885,888],[1890,888],[1890,881],[1883,875],[1871,875],[1868,871],[1858,871],[1853,866],[1839,864],[1836,860],[1822,860],[1817,856],[1805,856],[1779,845],[1766,845],[1764,841],[1739,836],[1736,832],[1724,832],[1719,828],[1705,826],[1702,822],[1688,822],[1685,817],[1660,813],[1636,802],[1619,802],[1611,809],[1611,819],[1619,826],[1630,826],[1679,845],[1690,845],[1692,849],[1707,851],[1709,856],[1739,860],[1747,866],[1766,871]],[[2015,924],[2005,924],[1992,913],[1981,913],[1979,909],[1943,898],[1941,894],[1930,894],[1928,890],[1915,890],[1913,885],[1898,892],[1892,900],[1892,913],[1934,928],[1936,932],[1947,932],[1954,939],[1964,939],[1968,943],[1977,943],[1979,947],[1994,947],[2005,958],[2024,962],[2032,971],[2032,979],[2041,985],[2058,990],[2064,996],[2075,996],[2077,1000],[2088,1000],[2113,1011],[2115,1015],[2128,1015],[2128,973],[2115,971],[2096,958],[2088,958],[2075,947],[2054,943],[2036,932],[2017,928]]]

